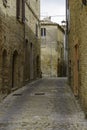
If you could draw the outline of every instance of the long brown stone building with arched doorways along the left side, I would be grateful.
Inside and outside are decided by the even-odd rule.
[[[40,77],[40,0],[0,0],[0,92]]]

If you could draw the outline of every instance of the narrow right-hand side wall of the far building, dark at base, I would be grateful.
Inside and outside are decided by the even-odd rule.
[[[65,31],[62,26],[57,27],[57,52],[58,52],[58,66],[57,66],[57,76],[66,76],[66,48],[65,48]]]

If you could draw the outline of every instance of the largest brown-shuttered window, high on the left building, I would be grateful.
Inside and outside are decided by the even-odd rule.
[[[21,20],[22,22],[25,21],[25,0],[16,0],[16,7],[17,7],[17,19]]]

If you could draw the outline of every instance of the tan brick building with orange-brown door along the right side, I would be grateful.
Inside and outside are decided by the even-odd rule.
[[[69,83],[87,114],[87,1],[67,1]]]

